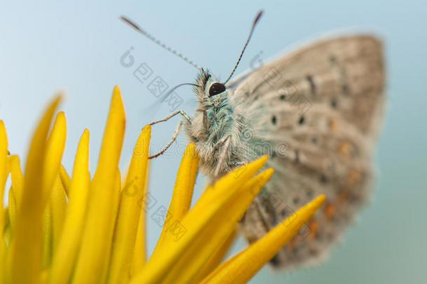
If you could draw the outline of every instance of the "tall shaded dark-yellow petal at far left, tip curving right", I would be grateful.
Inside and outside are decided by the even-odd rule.
[[[31,140],[25,165],[21,205],[10,248],[10,283],[38,283],[41,268],[41,219],[45,208],[43,167],[50,121],[59,103],[57,97],[45,111]],[[22,269],[25,267],[25,269]]]

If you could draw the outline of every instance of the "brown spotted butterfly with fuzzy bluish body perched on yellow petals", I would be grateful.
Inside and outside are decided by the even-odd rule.
[[[369,34],[321,39],[228,82],[261,15],[225,82],[122,19],[200,69],[195,83],[179,85],[193,86],[195,114],[175,111],[151,123],[183,116],[172,140],[150,158],[166,151],[181,127],[195,143],[200,171],[211,180],[267,154],[266,167],[275,173],[239,224],[250,243],[325,194],[322,208],[270,261],[290,269],[325,259],[370,198],[372,151],[385,101],[383,48]]]

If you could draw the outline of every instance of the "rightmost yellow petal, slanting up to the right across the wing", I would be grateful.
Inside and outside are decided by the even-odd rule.
[[[323,201],[325,196],[320,195],[304,205],[258,241],[223,262],[202,283],[246,283],[314,215]]]

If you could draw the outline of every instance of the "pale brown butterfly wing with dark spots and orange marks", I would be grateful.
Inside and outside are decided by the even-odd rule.
[[[267,166],[275,169],[242,219],[242,233],[255,241],[325,194],[323,207],[272,259],[287,268],[318,262],[370,196],[372,147],[384,104],[381,41],[368,35],[318,41],[228,88],[250,129],[254,156],[269,154]]]

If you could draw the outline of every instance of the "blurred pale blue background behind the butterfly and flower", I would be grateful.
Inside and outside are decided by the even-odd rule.
[[[90,166],[97,162],[113,86],[122,90],[127,129],[121,168],[144,124],[169,113],[146,111],[155,97],[120,65],[130,46],[136,64],[146,62],[169,86],[193,81],[196,69],[139,36],[118,20],[128,15],[159,39],[225,78],[258,9],[260,21],[237,74],[260,50],[265,59],[293,43],[337,29],[379,32],[386,43],[388,111],[376,155],[377,187],[358,224],[321,266],[292,273],[265,268],[251,283],[424,283],[427,278],[427,6],[423,1],[1,1],[0,118],[10,151],[25,157],[43,107],[66,92],[68,137],[63,163],[71,171],[76,144],[90,130]],[[190,88],[178,91],[193,113]],[[153,142],[166,142],[176,123],[155,126]],[[185,138],[179,138],[185,144]],[[155,146],[153,145],[153,149]],[[153,150],[154,151],[154,150]],[[182,151],[179,150],[179,151]],[[151,192],[167,205],[180,152],[153,161]],[[204,180],[197,180],[197,196]],[[160,228],[148,222],[148,250]],[[243,248],[239,241],[235,251]],[[267,282],[268,281],[268,282]]]

